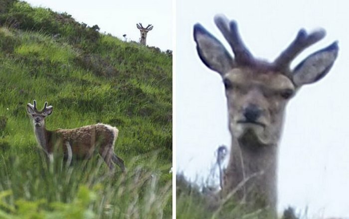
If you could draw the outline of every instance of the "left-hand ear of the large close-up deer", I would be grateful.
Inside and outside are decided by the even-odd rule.
[[[194,25],[194,40],[201,61],[208,68],[223,75],[233,67],[233,58],[223,44],[201,24]]]

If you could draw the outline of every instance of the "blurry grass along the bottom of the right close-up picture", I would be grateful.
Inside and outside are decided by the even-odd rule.
[[[199,187],[176,174],[177,219],[275,219],[268,208],[257,208],[233,196],[222,197],[214,188]],[[306,219],[291,207],[284,210],[280,219]]]

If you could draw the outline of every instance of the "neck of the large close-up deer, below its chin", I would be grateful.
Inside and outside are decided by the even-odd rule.
[[[278,145],[265,145],[253,133],[241,138],[232,134],[230,160],[225,172],[226,193],[243,183],[237,192],[239,199],[251,203],[253,208],[277,204],[277,154]]]

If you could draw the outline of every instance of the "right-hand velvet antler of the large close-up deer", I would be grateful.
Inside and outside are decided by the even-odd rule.
[[[314,31],[309,35],[304,29],[301,29],[298,32],[296,39],[280,54],[278,58],[275,59],[275,67],[278,69],[288,68],[292,60],[296,58],[298,54],[314,43],[320,41],[325,37],[325,35],[326,32],[324,29]]]

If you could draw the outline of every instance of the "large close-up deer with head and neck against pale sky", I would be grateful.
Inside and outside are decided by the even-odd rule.
[[[338,41],[291,69],[297,55],[325,37],[324,29],[310,33],[300,29],[292,43],[268,62],[251,54],[236,21],[216,15],[214,22],[234,58],[200,23],[194,25],[193,37],[199,58],[221,76],[225,87],[231,145],[221,193],[252,209],[268,209],[276,218],[278,148],[286,105],[303,85],[327,75],[338,56]]]

